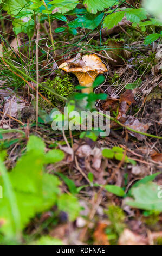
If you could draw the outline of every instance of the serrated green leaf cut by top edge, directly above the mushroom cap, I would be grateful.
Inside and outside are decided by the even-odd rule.
[[[90,13],[96,14],[97,11],[104,11],[105,8],[112,7],[113,5],[118,4],[118,1],[115,0],[84,0],[83,4],[85,5],[87,11]]]

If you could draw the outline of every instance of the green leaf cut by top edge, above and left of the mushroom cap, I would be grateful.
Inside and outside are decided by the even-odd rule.
[[[54,4],[53,13],[67,13],[79,4],[79,0],[53,0],[49,4]]]

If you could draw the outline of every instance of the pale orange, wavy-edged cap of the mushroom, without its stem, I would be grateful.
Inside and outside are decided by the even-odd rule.
[[[73,58],[69,59],[68,62],[62,63],[59,66],[59,69],[72,73],[94,71],[97,74],[102,74],[103,72],[108,71],[106,66],[102,63],[102,60],[95,54],[89,54],[82,57],[80,57],[80,54],[77,54],[77,56],[78,59]]]

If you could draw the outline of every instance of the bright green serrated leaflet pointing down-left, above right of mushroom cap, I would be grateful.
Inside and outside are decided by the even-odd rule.
[[[118,22],[120,22],[124,18],[124,14],[125,11],[118,11],[116,13],[107,15],[103,21],[103,27],[110,29],[113,28],[115,25],[118,25]]]

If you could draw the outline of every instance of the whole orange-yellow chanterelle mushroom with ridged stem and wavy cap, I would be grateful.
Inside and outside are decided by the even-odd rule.
[[[102,60],[95,54],[80,56],[77,54],[73,59],[69,59],[67,62],[62,63],[59,69],[66,71],[67,73],[73,73],[79,80],[81,86],[87,88],[82,89],[83,93],[92,92],[92,84],[95,78],[108,71],[106,66],[102,63]]]

